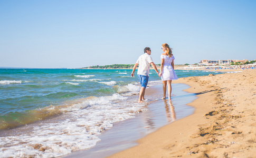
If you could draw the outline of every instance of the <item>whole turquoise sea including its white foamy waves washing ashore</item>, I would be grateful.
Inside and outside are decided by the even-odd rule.
[[[148,104],[159,100],[149,96],[145,103],[137,103],[139,80],[130,76],[131,71],[0,69],[0,157],[58,157],[93,149],[103,132],[146,114]],[[179,78],[220,73],[175,72]],[[154,70],[150,70],[149,76],[149,89],[162,84]],[[183,95],[175,91],[184,87],[173,86],[175,115],[185,117],[179,117],[179,113],[191,107],[179,110],[175,104],[175,98],[183,100]]]

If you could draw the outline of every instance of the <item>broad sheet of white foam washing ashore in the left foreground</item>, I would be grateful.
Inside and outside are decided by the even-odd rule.
[[[113,123],[147,110],[144,104],[127,101],[127,97],[119,94],[86,98],[70,105],[72,108],[80,110],[67,113],[63,121],[42,122],[29,133],[0,137],[0,157],[57,157],[89,149],[100,141],[98,135]]]

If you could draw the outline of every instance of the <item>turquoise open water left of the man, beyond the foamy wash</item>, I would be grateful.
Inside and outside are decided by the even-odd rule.
[[[137,82],[127,70],[0,69],[0,76],[0,121],[15,121],[15,125],[25,124],[22,117],[31,110],[75,98],[112,95],[120,91],[114,85]]]

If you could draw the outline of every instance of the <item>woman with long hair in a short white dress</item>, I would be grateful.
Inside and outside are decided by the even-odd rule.
[[[162,99],[166,98],[166,85],[168,86],[168,99],[170,100],[170,94],[172,93],[172,80],[177,80],[178,77],[174,72],[174,62],[175,57],[173,56],[172,49],[167,43],[162,44],[163,53],[161,55],[161,68],[159,76],[163,82],[163,93]]]

